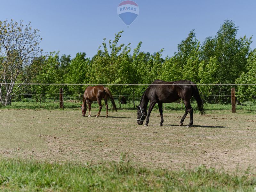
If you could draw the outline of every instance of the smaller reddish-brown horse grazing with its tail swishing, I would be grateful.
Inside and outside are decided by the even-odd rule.
[[[104,99],[105,104],[106,104],[106,118],[108,117],[108,98],[110,99],[111,103],[112,103],[112,111],[116,110],[116,104],[114,101],[114,98],[111,94],[111,92],[109,91],[109,89],[107,87],[104,87],[102,85],[99,86],[88,86],[85,91],[84,91],[84,95],[83,95],[83,105],[82,105],[82,114],[83,116],[85,116],[86,113],[86,103],[88,105],[88,109],[89,109],[89,116],[91,116],[91,106],[92,106],[92,101],[98,101],[98,104],[100,106],[100,110],[98,112],[98,115],[96,115],[96,117],[100,116],[100,111],[102,108],[101,105],[101,100]],[[117,110],[116,110],[117,111]]]

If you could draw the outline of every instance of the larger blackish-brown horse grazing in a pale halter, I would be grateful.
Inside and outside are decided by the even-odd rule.
[[[160,84],[160,85],[157,85]],[[165,85],[167,84],[167,85]],[[204,104],[203,100],[201,99],[198,89],[196,85],[188,80],[180,80],[174,82],[165,82],[162,80],[156,80],[149,85],[146,91],[143,93],[140,105],[136,106],[138,108],[137,111],[137,123],[139,125],[143,124],[143,121],[146,119],[145,126],[148,126],[149,116],[154,108],[155,104],[158,104],[161,122],[159,125],[163,125],[164,118],[163,118],[163,103],[171,103],[174,101],[179,100],[180,98],[184,101],[185,104],[185,114],[180,120],[180,126],[183,125],[183,121],[185,117],[190,115],[190,121],[187,127],[190,127],[193,124],[193,108],[190,105],[190,99],[194,95],[199,113],[204,115]],[[147,113],[147,106],[148,102],[150,101],[148,113]]]

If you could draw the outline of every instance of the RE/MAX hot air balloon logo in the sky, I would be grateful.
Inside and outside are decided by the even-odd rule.
[[[117,6],[117,14],[127,27],[138,17],[139,12],[139,6],[134,1],[123,1]]]

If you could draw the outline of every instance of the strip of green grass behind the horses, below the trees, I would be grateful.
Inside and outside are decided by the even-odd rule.
[[[104,102],[103,102],[104,103]],[[80,104],[82,102],[64,102],[64,108],[66,109],[72,109],[72,108],[80,108]],[[140,102],[136,101],[136,105],[139,105]],[[193,102],[192,107],[195,109],[197,104],[196,102]],[[59,102],[54,102],[54,101],[48,101],[48,102],[41,102],[41,108],[42,109],[58,109],[60,106]],[[111,104],[109,104],[111,107]],[[119,103],[116,102],[117,108],[119,108]],[[95,102],[92,103],[92,108],[98,108],[99,105]],[[11,106],[0,106],[0,108],[28,108],[28,109],[38,109],[39,108],[39,102],[35,101],[26,101],[26,102],[12,102]],[[133,108],[133,103],[127,103],[127,104],[121,104],[121,108],[124,109],[130,109]],[[184,104],[181,105],[181,103],[166,103],[163,105],[164,110],[184,110],[185,106]],[[205,110],[231,110],[231,104],[211,104],[211,103],[205,103],[204,104]],[[102,108],[104,111],[105,108]],[[154,110],[158,110],[158,106],[156,105]],[[256,111],[256,105],[252,103],[244,103],[244,104],[239,104],[236,105],[236,110],[238,112],[255,112]]]

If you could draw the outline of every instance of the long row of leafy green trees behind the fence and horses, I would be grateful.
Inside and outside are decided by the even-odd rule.
[[[252,38],[237,38],[237,31],[234,21],[225,20],[215,36],[207,37],[200,44],[193,29],[178,44],[177,52],[165,59],[162,58],[164,49],[153,54],[140,51],[142,42],[132,52],[130,44],[120,43],[123,34],[120,31],[113,40],[104,38],[92,59],[87,58],[84,52],[77,53],[73,59],[70,55],[60,57],[59,52],[52,52],[48,56],[35,58],[32,62],[34,65],[27,71],[30,71],[30,76],[36,74],[35,83],[151,84],[156,79],[187,79],[199,84],[255,83],[255,51],[249,55]],[[12,56],[15,59],[15,52]],[[3,60],[1,56],[1,63]],[[36,71],[38,67],[40,70]],[[22,81],[17,79],[17,82]],[[79,95],[81,100],[85,87],[67,86],[64,92],[73,94],[74,98]],[[134,96],[141,95],[147,86],[108,87],[113,95]],[[39,85],[37,88],[23,89],[21,93],[58,96],[58,89],[59,86]],[[239,101],[255,100],[255,86],[239,86],[238,89]],[[228,86],[199,86],[199,90],[201,95],[212,95],[204,98],[208,102],[230,102]],[[251,96],[245,97],[245,93]],[[16,98],[22,100],[20,96]]]

